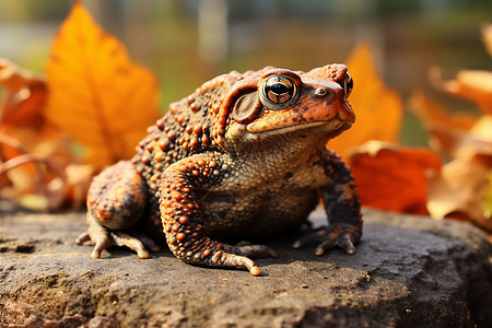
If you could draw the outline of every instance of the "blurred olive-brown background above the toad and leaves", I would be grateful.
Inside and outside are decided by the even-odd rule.
[[[95,21],[153,70],[162,105],[187,96],[231,70],[265,66],[309,70],[343,62],[368,42],[379,73],[406,101],[421,89],[452,109],[473,106],[434,91],[427,69],[491,70],[480,24],[492,22],[490,0],[83,0]],[[68,0],[0,1],[0,57],[43,72]],[[349,68],[350,71],[350,68]],[[356,84],[358,87],[363,85]],[[425,143],[406,114],[402,141]]]

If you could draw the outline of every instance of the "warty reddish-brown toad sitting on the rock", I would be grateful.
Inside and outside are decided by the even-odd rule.
[[[78,244],[95,244],[93,258],[114,245],[148,258],[161,236],[187,263],[259,276],[250,258],[277,253],[224,241],[298,230],[321,199],[329,224],[293,247],[314,242],[317,256],[335,246],[354,254],[362,234],[356,187],[326,148],[355,120],[352,87],[343,65],[233,71],[206,82],[169,105],[131,161],[93,179],[89,229]]]

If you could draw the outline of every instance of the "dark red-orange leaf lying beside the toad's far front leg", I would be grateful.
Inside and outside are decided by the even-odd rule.
[[[349,165],[364,206],[426,214],[427,179],[440,171],[442,161],[427,149],[372,141],[356,148]]]

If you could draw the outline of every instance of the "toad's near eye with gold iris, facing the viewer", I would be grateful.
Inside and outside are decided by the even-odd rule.
[[[284,108],[295,99],[297,85],[285,75],[271,75],[261,82],[261,103],[266,107]],[[270,106],[269,106],[270,105]]]

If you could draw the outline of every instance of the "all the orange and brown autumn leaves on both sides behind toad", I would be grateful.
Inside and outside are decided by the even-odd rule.
[[[492,25],[482,35],[492,56]],[[358,121],[328,147],[350,164],[362,202],[492,231],[492,72],[460,71],[446,81],[431,70],[435,87],[482,114],[448,113],[417,92],[409,107],[431,148],[406,148],[398,143],[402,101],[378,75],[371,47],[360,44],[347,65],[358,85],[350,97]],[[80,208],[92,176],[131,157],[159,117],[154,75],[79,2],[54,40],[46,75],[0,59],[0,211]]]

